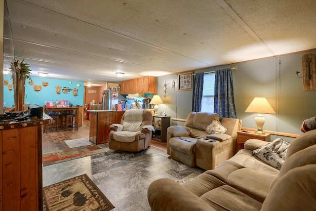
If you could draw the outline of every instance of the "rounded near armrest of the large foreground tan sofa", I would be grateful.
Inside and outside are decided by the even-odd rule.
[[[151,211],[215,211],[197,195],[169,178],[152,182],[147,197]]]

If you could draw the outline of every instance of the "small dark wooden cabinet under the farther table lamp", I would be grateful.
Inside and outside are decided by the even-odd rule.
[[[167,128],[170,126],[170,117],[153,116],[153,123],[155,131],[152,132],[152,139],[161,142],[166,142]]]

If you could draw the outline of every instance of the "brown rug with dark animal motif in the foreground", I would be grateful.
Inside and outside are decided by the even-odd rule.
[[[113,208],[86,174],[43,188],[44,211],[109,211]]]

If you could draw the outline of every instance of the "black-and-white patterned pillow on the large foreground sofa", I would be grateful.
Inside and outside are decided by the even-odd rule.
[[[281,169],[289,145],[289,142],[286,142],[281,138],[276,138],[274,141],[264,145],[260,149],[253,150],[253,153],[270,166],[276,169]]]

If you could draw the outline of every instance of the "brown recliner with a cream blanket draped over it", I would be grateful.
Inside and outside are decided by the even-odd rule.
[[[110,126],[109,148],[113,150],[139,152],[152,142],[152,113],[144,109],[126,110],[120,124]]]

